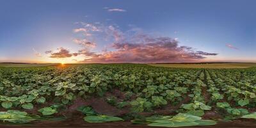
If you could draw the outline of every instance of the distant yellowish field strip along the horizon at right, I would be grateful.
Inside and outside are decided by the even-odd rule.
[[[256,63],[204,63],[204,64],[148,64],[156,67],[172,68],[249,68],[256,67]]]

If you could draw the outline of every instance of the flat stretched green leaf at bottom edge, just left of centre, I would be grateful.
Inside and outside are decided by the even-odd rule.
[[[122,118],[116,116],[106,116],[106,115],[99,115],[99,116],[85,116],[84,120],[89,123],[104,123],[104,122],[116,122],[116,121],[123,121]]]

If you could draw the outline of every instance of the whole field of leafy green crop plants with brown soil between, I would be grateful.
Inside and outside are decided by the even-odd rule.
[[[56,118],[156,127],[255,122],[255,94],[255,67],[0,67],[0,120],[13,124]]]

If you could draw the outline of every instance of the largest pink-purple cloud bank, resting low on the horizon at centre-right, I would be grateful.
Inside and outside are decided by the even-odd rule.
[[[134,39],[135,38],[135,39]],[[179,42],[169,37],[134,35],[132,40],[116,42],[115,51],[96,54],[86,51],[84,63],[167,63],[198,61],[216,53],[195,51],[192,47],[179,46]],[[89,54],[88,54],[89,53]]]

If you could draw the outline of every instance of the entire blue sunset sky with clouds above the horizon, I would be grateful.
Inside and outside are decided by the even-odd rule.
[[[254,0],[0,0],[0,62],[256,62]]]

